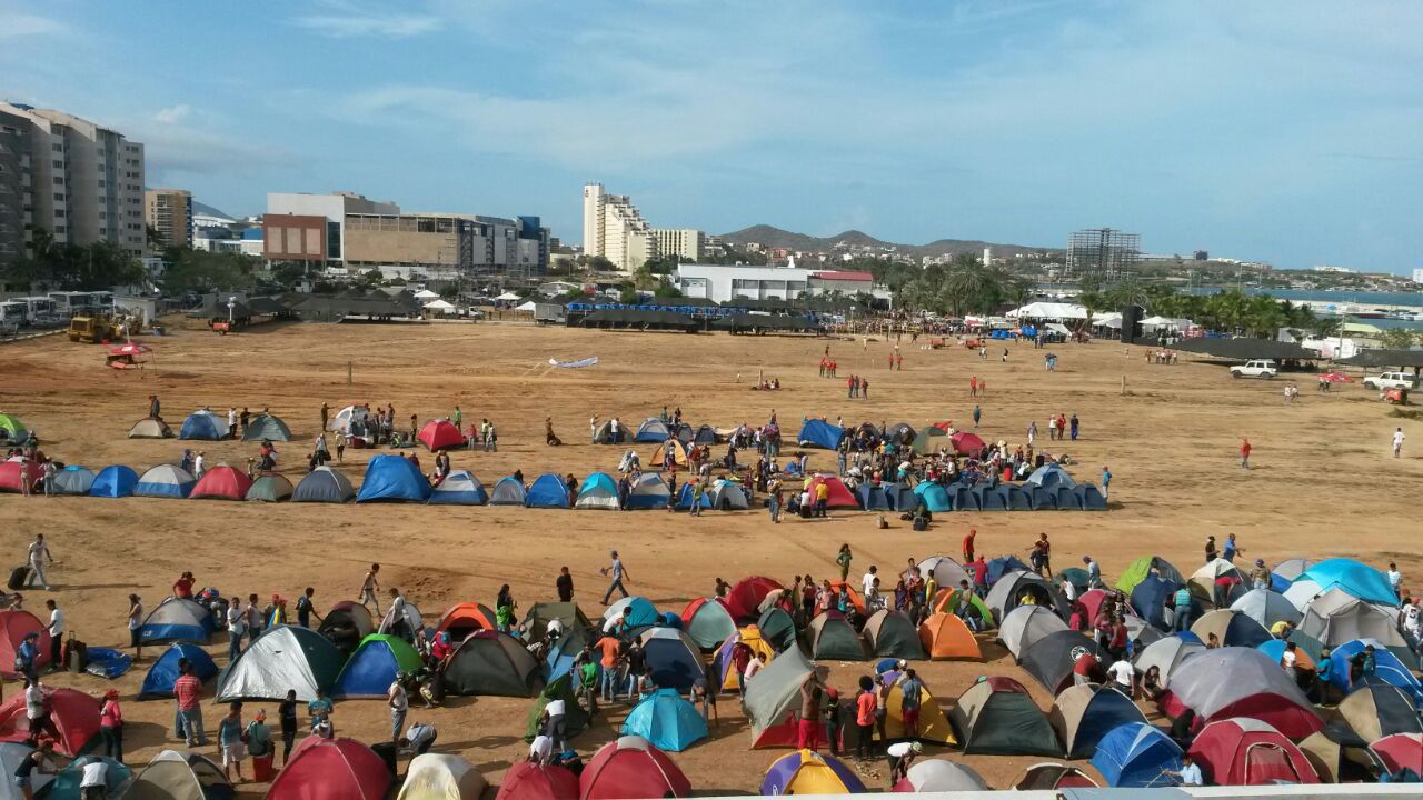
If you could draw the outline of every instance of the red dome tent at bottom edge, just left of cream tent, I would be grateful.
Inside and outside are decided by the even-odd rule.
[[[390,770],[370,747],[354,739],[307,736],[266,796],[268,800],[383,800],[387,789]]]

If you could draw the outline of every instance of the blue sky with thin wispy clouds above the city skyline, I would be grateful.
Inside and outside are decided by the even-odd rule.
[[[221,9],[221,10],[219,10]],[[0,98],[232,214],[349,189],[659,226],[1423,266],[1423,3],[0,0]]]

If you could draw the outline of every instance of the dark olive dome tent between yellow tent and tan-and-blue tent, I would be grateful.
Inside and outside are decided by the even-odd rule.
[[[983,678],[949,710],[966,754],[1062,756],[1053,726],[1012,678]]]

